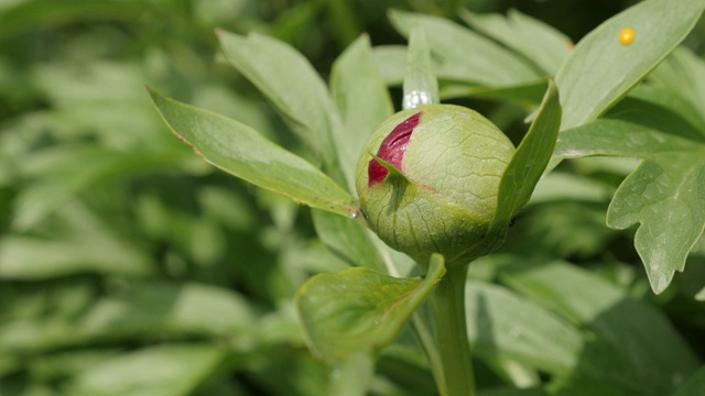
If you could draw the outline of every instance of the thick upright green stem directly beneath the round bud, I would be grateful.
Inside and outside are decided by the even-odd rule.
[[[467,265],[449,268],[431,296],[444,376],[444,383],[438,383],[438,391],[444,396],[475,395],[475,376],[465,321],[467,268]]]

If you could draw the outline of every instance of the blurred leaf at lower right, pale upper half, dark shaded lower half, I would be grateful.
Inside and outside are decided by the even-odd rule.
[[[655,307],[634,301],[614,284],[567,263],[525,263],[502,272],[502,283],[585,329],[574,377],[627,394],[664,395],[698,364],[692,348]]]

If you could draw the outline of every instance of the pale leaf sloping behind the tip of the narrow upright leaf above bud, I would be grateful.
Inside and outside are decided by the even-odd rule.
[[[446,19],[395,10],[390,11],[389,18],[405,36],[414,26],[423,29],[432,52],[447,65],[447,77],[453,79],[511,86],[541,77],[512,52]]]

